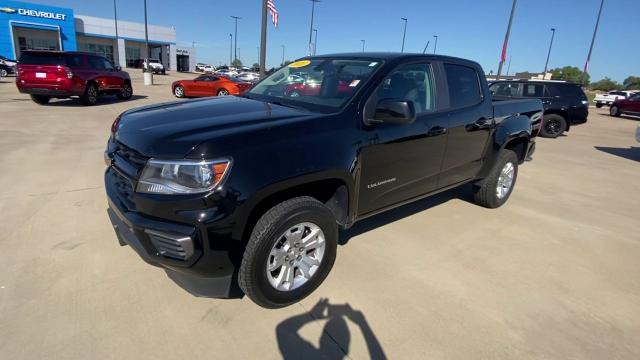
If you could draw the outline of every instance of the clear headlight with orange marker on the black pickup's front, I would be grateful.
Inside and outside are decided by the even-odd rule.
[[[196,194],[209,192],[231,169],[229,158],[216,160],[158,160],[147,162],[136,191],[148,194]]]

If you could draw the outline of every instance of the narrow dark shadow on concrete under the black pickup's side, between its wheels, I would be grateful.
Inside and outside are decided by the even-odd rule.
[[[440,194],[429,196],[422,200],[414,201],[393,210],[389,210],[384,213],[374,215],[368,219],[359,221],[355,223],[355,225],[353,225],[350,229],[340,232],[338,244],[346,245],[352,237],[362,235],[376,228],[391,224],[395,221],[431,209],[432,207],[444,204],[447,201],[453,199],[473,202],[471,184],[462,185],[457,188],[442,192]]]

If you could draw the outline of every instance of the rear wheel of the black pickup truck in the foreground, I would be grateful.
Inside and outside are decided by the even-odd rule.
[[[511,196],[517,177],[518,156],[511,150],[502,150],[489,175],[474,184],[475,203],[489,209],[502,206]]]

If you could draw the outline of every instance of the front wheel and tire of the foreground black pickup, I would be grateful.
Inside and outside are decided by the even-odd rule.
[[[307,196],[284,201],[253,228],[238,274],[240,288],[265,308],[298,302],[327,277],[337,245],[331,210]]]

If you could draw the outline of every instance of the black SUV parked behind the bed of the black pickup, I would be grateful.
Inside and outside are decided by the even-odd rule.
[[[586,122],[589,115],[589,101],[578,84],[549,80],[504,80],[492,82],[489,89],[494,100],[542,100],[542,137],[556,138],[569,131],[571,124]]]

